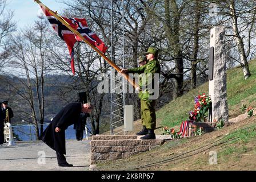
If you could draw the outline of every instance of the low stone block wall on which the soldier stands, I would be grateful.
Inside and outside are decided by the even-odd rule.
[[[149,151],[164,142],[163,139],[141,140],[137,135],[96,135],[91,140],[91,164],[127,158]]]

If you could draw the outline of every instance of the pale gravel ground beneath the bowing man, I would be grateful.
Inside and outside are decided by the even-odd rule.
[[[42,141],[15,142],[15,146],[0,145],[1,171],[88,171],[90,140],[67,140],[66,159],[73,167],[59,167],[56,153]],[[45,158],[43,158],[45,155]]]

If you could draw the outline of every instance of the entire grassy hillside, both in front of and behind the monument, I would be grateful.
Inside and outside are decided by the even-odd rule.
[[[230,118],[242,114],[242,104],[256,107],[256,61],[249,63],[252,76],[243,79],[242,68],[227,72],[227,97]],[[194,97],[208,93],[208,83],[191,90],[157,111],[157,125],[179,127],[193,109]],[[154,150],[114,162],[98,163],[99,170],[255,170],[256,117],[199,137],[170,140]],[[135,122],[135,131],[141,129]],[[156,133],[161,133],[158,129]],[[129,133],[133,134],[133,133]],[[217,164],[210,164],[211,152]],[[146,157],[145,157],[146,156]]]

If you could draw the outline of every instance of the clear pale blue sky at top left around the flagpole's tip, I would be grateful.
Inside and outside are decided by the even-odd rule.
[[[41,0],[47,7],[59,13],[65,9],[66,5],[60,3],[61,0]],[[37,15],[41,8],[34,0],[7,0],[6,10],[13,10],[13,20],[17,22],[17,28],[25,28],[37,20]]]

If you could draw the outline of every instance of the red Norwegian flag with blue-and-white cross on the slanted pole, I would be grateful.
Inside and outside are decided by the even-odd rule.
[[[57,32],[59,37],[63,39],[66,44],[67,48],[69,48],[69,54],[70,54],[70,64],[71,69],[73,72],[73,75],[75,75],[75,66],[74,66],[74,45],[76,42],[82,42],[82,39],[79,38],[78,35],[75,35],[69,28],[67,28],[64,24],[62,24],[55,16],[53,16],[49,11],[47,11],[43,6],[41,6],[41,9],[43,13],[45,13],[46,18],[49,20],[51,26],[53,29]],[[87,22],[85,19],[79,19],[79,18],[65,18],[61,16],[69,25],[77,30],[79,34],[81,34],[90,44],[97,47],[99,51],[102,53],[106,53],[107,47],[105,44],[101,41],[101,39],[98,38],[98,36],[92,32],[89,27],[87,26]]]

